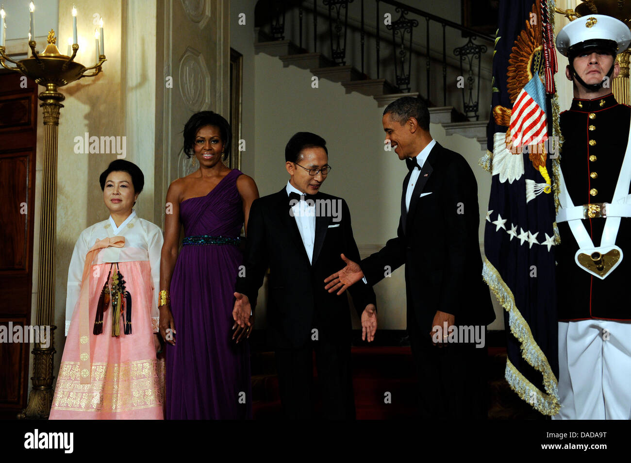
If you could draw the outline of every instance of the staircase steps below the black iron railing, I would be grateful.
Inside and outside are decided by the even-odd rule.
[[[256,54],[264,53],[278,57],[283,62],[283,67],[296,66],[307,69],[318,79],[340,83],[347,94],[355,91],[367,97],[373,97],[379,107],[386,107],[403,96],[418,97],[418,93],[401,93],[387,79],[370,79],[353,66],[336,66],[321,52],[309,53],[307,50],[300,49],[291,40],[271,40],[271,37],[260,28],[255,28],[254,32],[258,40],[254,44]],[[487,149],[488,120],[470,121],[452,106],[430,106],[429,112],[430,122],[441,124],[447,135],[460,134],[466,138],[475,138],[482,150]]]

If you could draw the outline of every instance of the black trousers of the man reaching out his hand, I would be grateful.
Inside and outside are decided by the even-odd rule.
[[[419,383],[420,417],[487,419],[487,347],[476,348],[475,343],[434,346],[430,325],[420,330],[416,322],[408,319]]]

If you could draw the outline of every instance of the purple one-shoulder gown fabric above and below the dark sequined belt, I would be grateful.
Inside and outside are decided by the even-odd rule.
[[[206,196],[180,203],[187,237],[239,237],[239,170]],[[233,244],[184,245],[171,279],[175,346],[167,344],[167,419],[252,417],[248,343],[232,341],[242,252]]]

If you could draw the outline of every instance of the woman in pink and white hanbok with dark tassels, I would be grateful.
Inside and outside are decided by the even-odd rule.
[[[144,185],[138,166],[112,161],[99,180],[110,216],[74,246],[50,419],[163,419],[162,231],[133,209]]]

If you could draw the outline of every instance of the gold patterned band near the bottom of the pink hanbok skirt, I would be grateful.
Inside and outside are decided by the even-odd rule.
[[[119,412],[164,404],[164,360],[93,363],[91,378],[91,384],[81,384],[79,363],[62,362],[52,407]]]

